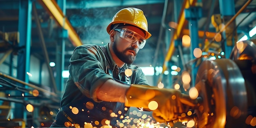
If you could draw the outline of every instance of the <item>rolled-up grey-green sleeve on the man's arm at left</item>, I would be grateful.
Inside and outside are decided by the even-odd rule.
[[[79,90],[98,101],[96,90],[112,77],[105,73],[106,58],[99,47],[82,45],[76,47],[70,58],[69,73]],[[105,69],[104,69],[105,68]]]

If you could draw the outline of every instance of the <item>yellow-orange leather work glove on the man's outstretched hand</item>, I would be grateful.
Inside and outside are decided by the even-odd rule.
[[[184,112],[184,104],[195,106],[196,100],[190,99],[189,95],[182,94],[179,90],[159,89],[147,85],[131,85],[126,92],[125,106],[148,107],[150,101],[156,101],[158,107],[153,110],[153,117],[159,123],[177,119],[178,114]]]

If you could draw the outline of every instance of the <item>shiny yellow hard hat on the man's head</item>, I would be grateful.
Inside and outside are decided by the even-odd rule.
[[[112,18],[112,21],[107,27],[108,34],[110,34],[110,30],[112,29],[112,25],[123,23],[133,25],[139,27],[140,29],[145,31],[145,39],[148,39],[151,34],[148,32],[148,21],[146,16],[141,9],[137,9],[134,7],[128,7],[121,9],[118,11],[115,16]]]

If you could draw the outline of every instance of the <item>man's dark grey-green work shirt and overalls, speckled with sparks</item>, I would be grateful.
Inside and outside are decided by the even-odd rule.
[[[105,47],[105,51],[103,47]],[[132,70],[132,75],[128,78],[128,84],[126,85],[149,85],[141,68],[138,66],[125,64],[124,67],[119,69],[118,76],[110,73],[115,67],[117,65],[111,57],[108,44],[104,46],[81,45],[76,47],[70,58],[70,76],[61,100],[62,110],[76,123],[82,125],[87,122],[99,127],[101,124],[95,125],[94,122],[99,121],[101,123],[106,119],[110,120],[111,125],[115,125],[117,123],[116,120],[120,119],[121,115],[125,115],[127,109],[124,109],[124,103],[106,102],[97,99],[97,88],[108,79],[114,79],[113,77],[124,81],[122,78],[127,77],[124,74],[126,69]],[[127,81],[124,82],[127,83]],[[78,109],[77,114],[72,112],[74,107]],[[111,117],[110,113],[112,112],[115,112],[118,116]]]

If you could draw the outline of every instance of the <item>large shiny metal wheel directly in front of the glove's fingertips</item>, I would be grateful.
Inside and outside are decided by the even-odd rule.
[[[234,61],[203,61],[195,83],[203,99],[195,110],[198,128],[245,128],[247,92],[243,75]]]

